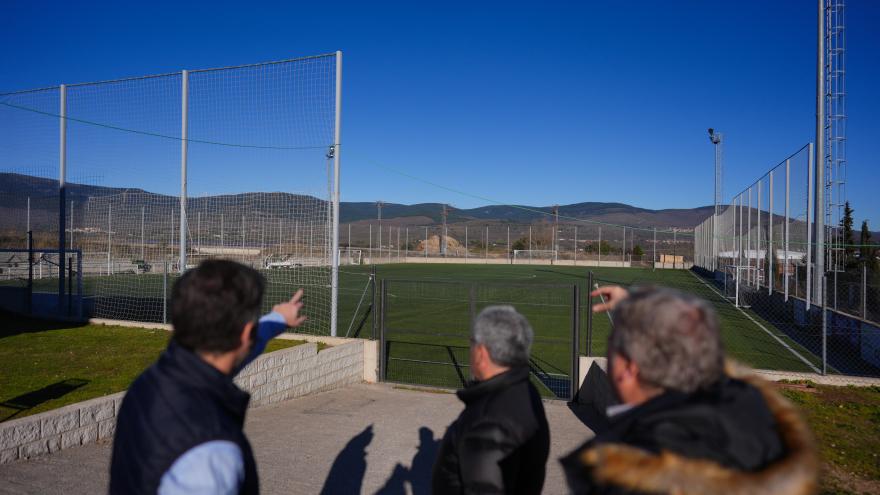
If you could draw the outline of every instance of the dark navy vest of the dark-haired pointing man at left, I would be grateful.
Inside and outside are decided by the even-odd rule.
[[[258,493],[256,464],[244,436],[250,395],[173,341],[122,401],[110,463],[110,493],[156,493],[162,475],[189,449],[228,440],[241,449],[242,493]]]

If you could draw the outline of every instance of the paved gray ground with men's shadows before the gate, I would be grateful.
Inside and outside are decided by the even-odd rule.
[[[438,442],[462,409],[446,393],[356,385],[251,411],[246,425],[264,493],[430,493]],[[565,493],[556,459],[591,432],[563,403],[545,406],[544,492]],[[0,493],[103,493],[110,445],[0,466]]]

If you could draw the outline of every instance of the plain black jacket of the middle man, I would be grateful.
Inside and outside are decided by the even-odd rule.
[[[434,463],[436,494],[541,493],[550,429],[527,367],[458,391],[464,411]]]

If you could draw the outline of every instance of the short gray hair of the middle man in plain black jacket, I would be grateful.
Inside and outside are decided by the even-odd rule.
[[[529,321],[513,306],[485,308],[471,328],[473,342],[486,346],[489,357],[501,366],[528,364],[533,336]]]

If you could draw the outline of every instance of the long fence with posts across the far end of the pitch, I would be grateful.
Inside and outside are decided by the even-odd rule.
[[[584,223],[407,225],[358,221],[340,226],[351,264],[484,263],[690,268],[693,232]]]

